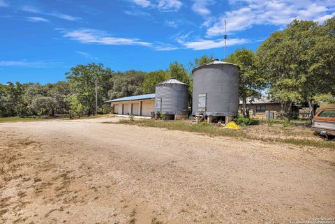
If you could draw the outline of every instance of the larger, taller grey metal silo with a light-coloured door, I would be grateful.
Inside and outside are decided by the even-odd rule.
[[[236,116],[239,108],[239,66],[214,60],[192,71],[192,114]]]

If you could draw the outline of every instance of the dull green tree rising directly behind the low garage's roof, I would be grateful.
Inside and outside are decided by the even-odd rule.
[[[110,98],[121,98],[142,94],[142,84],[145,74],[144,72],[135,70],[117,73],[114,75],[114,85],[108,95]]]

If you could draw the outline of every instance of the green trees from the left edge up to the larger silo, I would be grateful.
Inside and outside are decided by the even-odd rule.
[[[171,63],[167,70],[150,73],[138,70],[114,72],[103,64],[94,63],[77,65],[66,73],[66,81],[55,84],[0,84],[0,117],[90,116],[95,113],[96,89],[98,113],[106,114],[110,110],[106,100],[152,94],[155,85],[168,78],[191,85],[188,71],[177,62]]]

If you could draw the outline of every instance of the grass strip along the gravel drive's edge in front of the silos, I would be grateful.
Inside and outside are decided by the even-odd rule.
[[[292,137],[287,138],[261,137],[261,136],[249,135],[239,130],[230,130],[221,127],[216,127],[212,124],[207,124],[203,122],[190,125],[186,121],[152,121],[152,120],[129,121],[128,119],[122,119],[117,124],[130,124],[130,125],[153,127],[153,128],[166,128],[169,130],[188,131],[192,133],[200,133],[209,136],[235,137],[239,139],[259,140],[262,142],[273,142],[273,143],[279,142],[286,144],[295,144],[297,146],[322,147],[333,150],[335,149],[335,143],[327,142],[326,140],[297,139]]]

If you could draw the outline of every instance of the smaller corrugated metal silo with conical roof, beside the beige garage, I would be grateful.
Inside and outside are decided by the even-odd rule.
[[[170,79],[156,84],[155,113],[168,119],[188,117],[188,85]]]

